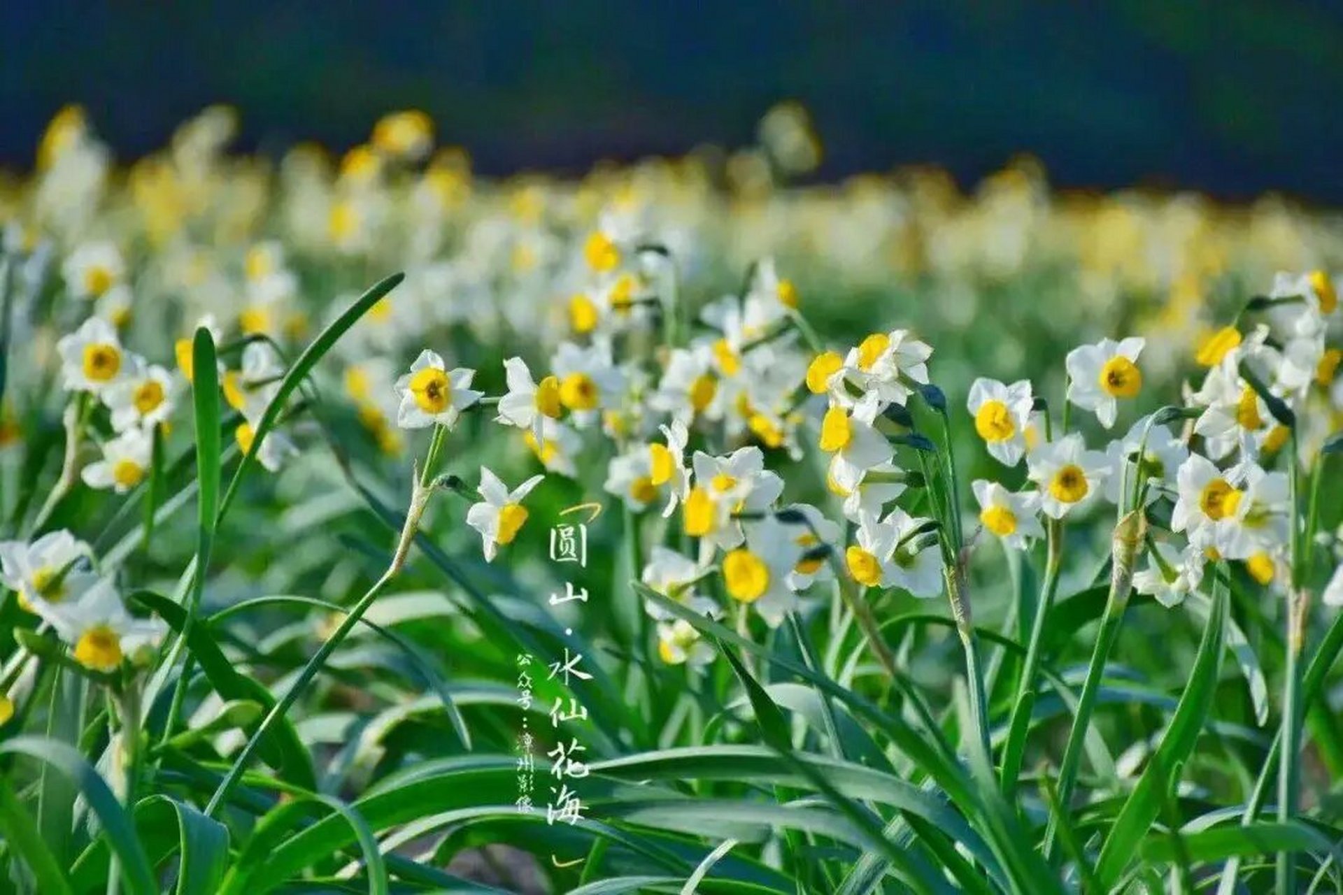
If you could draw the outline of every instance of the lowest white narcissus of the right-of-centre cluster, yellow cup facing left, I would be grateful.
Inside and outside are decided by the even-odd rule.
[[[941,551],[928,523],[900,507],[880,521],[864,517],[845,550],[849,577],[865,588],[904,588],[916,597],[941,593]]]

